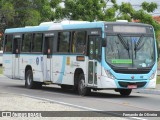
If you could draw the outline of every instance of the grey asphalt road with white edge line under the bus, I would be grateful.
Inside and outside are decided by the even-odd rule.
[[[0,76],[0,91],[90,111],[160,111],[160,95],[154,94],[132,92],[129,97],[122,97],[113,90],[104,90],[82,97],[72,90],[62,90],[56,85],[26,89],[23,80],[12,80],[4,76]]]

